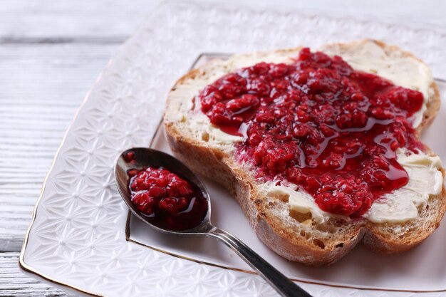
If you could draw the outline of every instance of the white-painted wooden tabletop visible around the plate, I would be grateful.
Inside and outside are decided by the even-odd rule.
[[[116,48],[156,4],[157,0],[1,1],[0,296],[72,296],[19,271],[22,240],[78,105]],[[306,0],[289,5],[446,31],[445,1],[343,4]]]

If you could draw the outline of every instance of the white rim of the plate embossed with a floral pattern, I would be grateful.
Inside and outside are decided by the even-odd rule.
[[[446,73],[444,33],[279,8],[163,2],[108,63],[68,130],[39,199],[21,265],[100,296],[276,296],[251,273],[125,241],[127,209],[113,181],[115,157],[150,143],[170,86],[199,53],[315,47],[364,37],[396,43],[423,58],[435,75]],[[301,286],[315,296],[388,295]]]

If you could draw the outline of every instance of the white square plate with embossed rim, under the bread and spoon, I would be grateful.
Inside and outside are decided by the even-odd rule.
[[[115,158],[129,147],[150,144],[170,86],[199,53],[316,47],[365,37],[413,51],[436,77],[445,78],[446,36],[440,32],[277,7],[165,1],[120,48],[85,98],[38,200],[21,252],[22,268],[98,296],[276,296],[212,239],[179,244],[177,238],[156,234],[133,219],[126,234],[128,210],[115,189]],[[446,84],[439,85],[445,94]],[[444,96],[442,101],[446,103]],[[446,140],[438,135],[444,135],[445,125],[442,108],[423,135],[442,160]],[[162,131],[154,145],[168,151]],[[224,189],[210,181],[207,187],[212,221],[314,296],[383,296],[389,291],[392,296],[446,296],[445,224],[408,253],[383,256],[358,246],[338,264],[311,269],[266,249]]]

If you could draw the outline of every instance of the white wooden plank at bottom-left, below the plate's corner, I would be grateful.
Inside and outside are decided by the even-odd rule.
[[[75,296],[33,278],[19,270],[19,253],[0,253],[0,296],[58,297]]]

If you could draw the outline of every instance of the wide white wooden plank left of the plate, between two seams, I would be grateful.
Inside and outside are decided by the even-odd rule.
[[[118,44],[0,46],[0,251],[19,251],[51,161]]]

